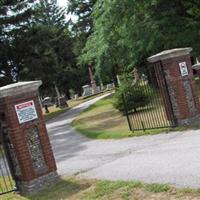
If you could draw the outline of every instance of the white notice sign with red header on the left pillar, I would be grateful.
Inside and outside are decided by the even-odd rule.
[[[33,100],[15,105],[15,110],[20,124],[38,118]]]

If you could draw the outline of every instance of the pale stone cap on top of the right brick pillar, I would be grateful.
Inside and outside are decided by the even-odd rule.
[[[192,51],[191,47],[187,48],[177,48],[177,49],[171,49],[171,50],[166,50],[162,51],[154,56],[151,56],[147,59],[148,62],[150,63],[155,63],[160,60],[166,60],[169,58],[175,58],[183,55],[188,55]]]

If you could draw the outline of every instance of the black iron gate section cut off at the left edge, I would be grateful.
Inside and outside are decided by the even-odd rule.
[[[0,195],[17,190],[12,173],[12,162],[9,156],[9,141],[0,122]]]

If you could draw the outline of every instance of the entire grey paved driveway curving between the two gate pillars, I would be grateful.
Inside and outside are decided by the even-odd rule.
[[[70,123],[100,98],[48,122],[59,174],[200,188],[199,130],[121,140],[87,139]]]

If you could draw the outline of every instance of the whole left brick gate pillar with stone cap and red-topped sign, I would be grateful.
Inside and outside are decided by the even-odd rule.
[[[58,180],[38,97],[40,85],[33,81],[0,88],[0,120],[6,124],[13,173],[22,194]]]

